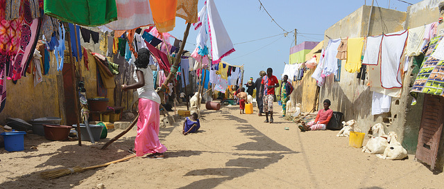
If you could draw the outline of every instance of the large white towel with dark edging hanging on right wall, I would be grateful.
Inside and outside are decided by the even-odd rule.
[[[381,46],[381,84],[384,89],[402,87],[400,59],[407,40],[407,30],[384,34]]]

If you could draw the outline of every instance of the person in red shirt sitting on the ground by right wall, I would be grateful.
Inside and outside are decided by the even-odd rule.
[[[300,131],[305,132],[305,131],[327,129],[327,124],[330,122],[330,119],[333,116],[333,110],[329,109],[330,105],[331,105],[330,100],[325,99],[324,109],[318,111],[318,115],[316,116],[316,119],[314,121],[312,120],[307,124],[305,124],[305,122],[302,122],[302,125],[298,126]]]

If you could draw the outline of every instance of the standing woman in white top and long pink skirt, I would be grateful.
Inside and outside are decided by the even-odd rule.
[[[142,48],[135,60],[136,69],[133,78],[135,84],[122,85],[122,90],[137,89],[139,94],[139,119],[137,120],[137,136],[134,142],[134,150],[137,156],[153,159],[163,159],[167,147],[159,141],[160,127],[160,97],[154,90],[153,71],[148,67],[150,52]]]

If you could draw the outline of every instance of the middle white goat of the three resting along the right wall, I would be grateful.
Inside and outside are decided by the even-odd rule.
[[[372,131],[373,134],[377,134],[377,136],[372,136],[372,138],[368,140],[367,144],[362,147],[362,152],[367,152],[370,154],[382,154],[388,145],[384,127],[381,123],[377,123],[373,125]]]

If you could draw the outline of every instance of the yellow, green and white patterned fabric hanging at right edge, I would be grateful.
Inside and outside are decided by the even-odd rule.
[[[444,96],[444,60],[437,60],[431,57],[443,37],[434,37],[425,53],[425,62],[416,76],[411,92],[429,93],[432,95]]]

